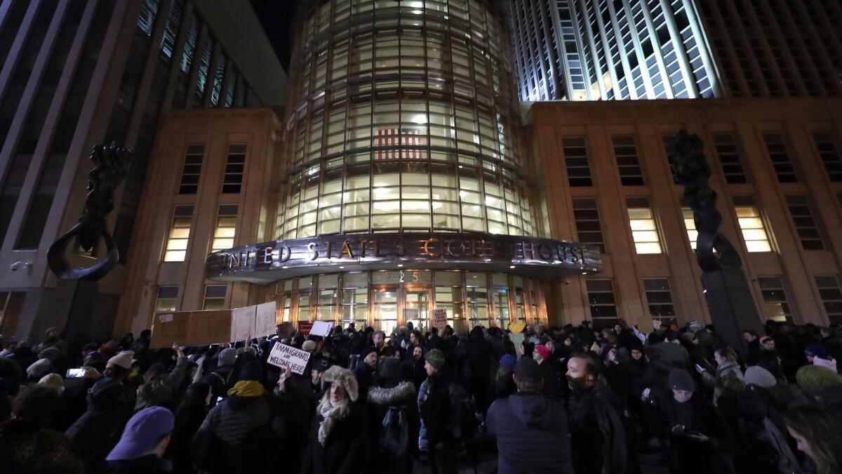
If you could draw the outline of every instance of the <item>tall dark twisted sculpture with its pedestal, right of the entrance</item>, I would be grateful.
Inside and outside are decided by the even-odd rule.
[[[742,349],[743,329],[759,330],[760,318],[741,269],[743,262],[719,231],[722,214],[716,207],[717,192],[707,182],[711,167],[703,150],[701,138],[684,130],[667,147],[674,174],[685,186],[685,201],[693,209],[693,221],[699,233],[695,256],[702,271],[711,319],[729,346]]]

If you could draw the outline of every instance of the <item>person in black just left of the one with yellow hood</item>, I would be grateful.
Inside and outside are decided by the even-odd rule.
[[[189,474],[195,472],[190,456],[190,441],[205,420],[210,404],[210,385],[197,382],[184,391],[179,407],[175,410],[173,439],[167,447],[165,458],[173,461],[173,471]]]

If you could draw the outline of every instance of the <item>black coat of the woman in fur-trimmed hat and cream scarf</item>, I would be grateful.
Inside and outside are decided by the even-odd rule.
[[[301,461],[301,474],[359,474],[364,471],[368,439],[363,409],[351,402],[348,416],[333,425],[324,446],[318,442],[321,423],[322,415],[313,417]]]

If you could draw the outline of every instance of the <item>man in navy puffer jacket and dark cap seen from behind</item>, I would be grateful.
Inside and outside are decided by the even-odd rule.
[[[498,473],[573,474],[568,417],[564,407],[541,391],[535,360],[521,358],[512,376],[518,392],[494,401],[486,427],[497,438]]]

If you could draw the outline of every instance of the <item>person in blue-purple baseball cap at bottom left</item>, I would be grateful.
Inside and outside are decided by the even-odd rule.
[[[123,436],[105,458],[109,474],[168,472],[161,456],[173,434],[175,417],[164,407],[148,407],[136,412],[125,424]]]

